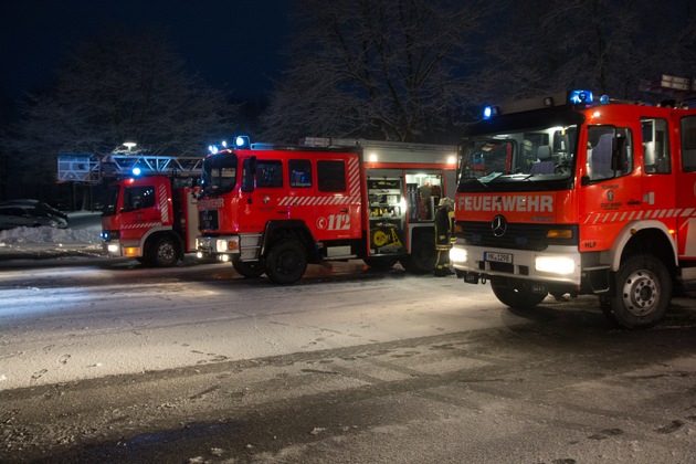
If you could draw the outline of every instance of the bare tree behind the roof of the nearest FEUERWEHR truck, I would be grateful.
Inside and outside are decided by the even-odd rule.
[[[637,98],[641,80],[694,68],[687,0],[510,1],[502,23],[482,70],[481,93],[489,99],[572,87]]]

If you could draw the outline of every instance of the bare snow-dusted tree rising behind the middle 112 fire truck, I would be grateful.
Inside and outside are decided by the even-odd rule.
[[[415,141],[441,134],[467,97],[472,36],[494,3],[299,2],[292,65],[264,117],[265,137]]]

